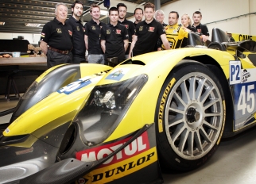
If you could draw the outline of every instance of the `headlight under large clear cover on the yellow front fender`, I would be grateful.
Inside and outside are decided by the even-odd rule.
[[[147,80],[147,75],[139,75],[126,81],[95,86],[76,117],[83,142],[91,146],[106,140]]]

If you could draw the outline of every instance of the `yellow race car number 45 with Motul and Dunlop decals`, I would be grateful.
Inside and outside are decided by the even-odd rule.
[[[161,183],[161,168],[203,165],[255,125],[256,47],[220,29],[208,47],[193,33],[188,43],[46,71],[2,125],[0,182]]]

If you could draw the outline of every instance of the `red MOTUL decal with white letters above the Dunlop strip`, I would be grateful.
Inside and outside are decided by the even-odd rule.
[[[131,137],[128,137],[124,140],[116,141],[112,144],[106,144],[97,148],[91,148],[83,151],[76,152],[76,159],[79,159],[84,162],[91,162],[99,159],[103,159],[110,155],[112,152],[117,150],[125,144],[127,140],[130,140]],[[100,167],[106,167],[114,163],[119,163],[123,160],[139,155],[144,151],[149,150],[149,139],[147,132],[144,132],[142,136],[138,136],[136,140],[130,143],[126,148],[119,151],[116,155],[112,156]]]

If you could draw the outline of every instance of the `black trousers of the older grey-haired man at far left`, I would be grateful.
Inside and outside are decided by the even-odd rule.
[[[60,54],[59,52],[54,52],[48,49],[47,52],[47,67],[54,67],[63,63],[72,63],[72,52],[68,54]]]

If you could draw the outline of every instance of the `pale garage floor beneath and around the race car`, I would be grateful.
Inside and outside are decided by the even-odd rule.
[[[17,99],[6,101],[0,96],[0,112],[17,105]],[[0,124],[10,116],[0,117]],[[215,155],[203,167],[187,173],[163,173],[166,184],[255,184],[256,127],[231,139],[222,140]]]

